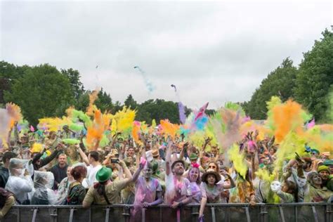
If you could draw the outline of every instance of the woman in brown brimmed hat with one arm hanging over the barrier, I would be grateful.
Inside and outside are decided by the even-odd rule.
[[[208,203],[226,203],[227,201],[221,198],[221,192],[223,189],[230,189],[235,187],[235,182],[233,178],[230,178],[229,174],[224,175],[230,179],[230,185],[224,185],[223,183],[218,183],[221,181],[221,176],[213,169],[209,169],[206,173],[202,175],[202,183],[200,185],[200,190],[202,192],[202,200],[200,204],[199,218],[203,217],[204,207]]]

